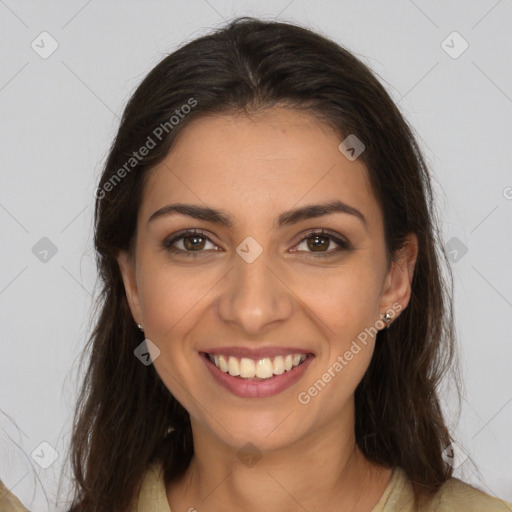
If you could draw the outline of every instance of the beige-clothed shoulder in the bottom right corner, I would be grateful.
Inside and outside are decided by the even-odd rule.
[[[457,478],[450,478],[439,489],[436,500],[439,512],[509,512],[512,504],[494,498]]]

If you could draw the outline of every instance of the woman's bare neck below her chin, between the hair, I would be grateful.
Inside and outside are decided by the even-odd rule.
[[[353,427],[344,428],[341,422],[334,427],[250,460],[193,423],[194,457],[180,480],[168,487],[171,510],[371,511],[391,469],[364,457]]]

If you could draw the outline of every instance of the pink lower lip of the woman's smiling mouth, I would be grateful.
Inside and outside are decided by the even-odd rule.
[[[313,360],[313,356],[308,355],[302,364],[295,366],[289,372],[285,371],[281,375],[264,380],[247,380],[224,373],[208,359],[204,352],[201,352],[200,356],[213,378],[228,391],[242,398],[267,398],[282,393],[302,377]]]

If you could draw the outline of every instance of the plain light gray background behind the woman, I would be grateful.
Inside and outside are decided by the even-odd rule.
[[[445,409],[479,472],[467,459],[456,475],[511,500],[511,0],[0,0],[0,477],[31,510],[62,510],[54,501],[76,358],[96,291],[101,166],[145,74],[235,15],[305,24],[345,45],[419,134],[444,242],[467,247],[452,263],[466,383],[457,425],[451,399]],[[50,48],[43,31],[58,42],[46,59],[31,47]],[[463,48],[458,36],[446,40],[453,31],[469,44],[458,58],[445,51]],[[46,262],[32,252],[42,237],[57,247]],[[43,442],[58,452],[46,469],[38,463],[51,461],[52,448]]]

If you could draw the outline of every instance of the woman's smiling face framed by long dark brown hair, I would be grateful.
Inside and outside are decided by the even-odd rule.
[[[352,426],[375,332],[406,306],[413,267],[387,268],[367,170],[340,142],[282,108],[212,116],[151,171],[135,264],[119,263],[156,371],[195,431],[271,449]],[[318,216],[328,203],[346,211]],[[307,358],[289,369],[304,359],[294,354]]]

